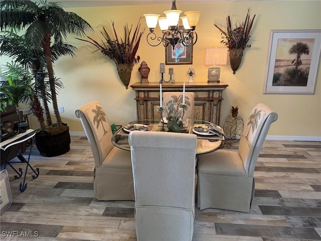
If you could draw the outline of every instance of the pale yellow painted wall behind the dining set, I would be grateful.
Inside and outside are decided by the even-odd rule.
[[[113,20],[117,33],[122,36],[123,26],[127,22],[135,26],[144,13],[163,15],[162,13],[171,7],[170,1],[164,2],[166,4],[163,5],[69,8],[67,11],[77,13],[94,28],[104,25],[111,30]],[[243,22],[248,8],[251,17],[256,14],[249,41],[252,48],[245,50],[239,70],[233,75],[229,63],[221,66],[221,82],[229,85],[223,94],[222,120],[230,114],[231,106],[238,105],[239,116],[246,119],[252,107],[263,102],[279,115],[277,122],[270,128],[269,136],[321,136],[320,63],[314,94],[263,94],[270,30],[321,29],[320,1],[233,1],[198,5],[180,4],[180,1],[177,1],[177,8],[183,13],[189,10],[203,12],[196,28],[199,39],[194,46],[192,67],[196,71],[194,81],[204,83],[207,82],[208,68],[203,65],[204,48],[224,47],[220,44],[221,35],[213,24],[225,26],[228,15],[233,21]],[[145,26],[144,18],[141,23]],[[149,46],[145,40],[147,33],[146,28],[137,54],[150,68],[149,82],[158,82],[161,77],[159,63],[165,63],[165,48]],[[101,36],[99,29],[88,35],[94,39],[100,39]],[[92,53],[94,49],[91,45],[73,37],[70,37],[68,42],[77,46],[77,58],[62,57],[54,67],[56,76],[62,79],[65,86],[59,91],[58,105],[64,106],[65,112],[61,113],[61,116],[70,131],[83,132],[74,112],[91,100],[102,103],[111,123],[122,125],[136,119],[135,93],[130,87],[125,89],[118,78],[115,64],[98,51]],[[130,84],[140,81],[138,67],[139,64],[133,68]],[[169,77],[169,67],[174,67],[173,77],[176,81],[188,81],[186,71],[191,65],[166,65],[166,79]],[[34,116],[32,120],[35,129],[37,124]]]

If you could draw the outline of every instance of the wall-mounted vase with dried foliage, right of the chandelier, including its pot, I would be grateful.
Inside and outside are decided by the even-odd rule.
[[[245,21],[243,23],[237,22],[235,27],[232,27],[231,18],[228,16],[226,18],[226,30],[223,30],[222,27],[220,28],[216,24],[214,26],[218,28],[222,35],[221,44],[224,44],[230,52],[230,64],[233,70],[233,74],[238,69],[241,64],[243,50],[245,48],[251,48],[250,44],[247,44],[250,40],[250,31],[253,26],[253,19],[250,19],[249,15],[250,9],[247,10],[247,15]]]

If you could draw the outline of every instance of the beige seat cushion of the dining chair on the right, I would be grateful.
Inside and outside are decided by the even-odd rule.
[[[198,172],[200,174],[247,176],[240,155],[228,150],[217,150],[200,155]]]

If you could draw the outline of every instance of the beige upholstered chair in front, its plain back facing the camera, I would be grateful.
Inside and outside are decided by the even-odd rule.
[[[196,144],[193,134],[129,134],[137,241],[192,240]]]

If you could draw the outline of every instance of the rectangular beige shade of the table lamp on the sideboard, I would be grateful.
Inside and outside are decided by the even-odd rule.
[[[207,48],[204,50],[205,65],[225,65],[228,48]]]

